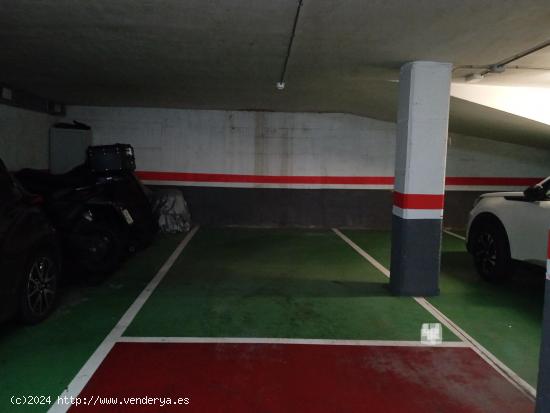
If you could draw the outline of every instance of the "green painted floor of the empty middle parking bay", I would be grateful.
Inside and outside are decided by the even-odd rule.
[[[417,341],[430,322],[332,231],[201,229],[125,335]]]

